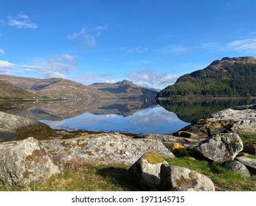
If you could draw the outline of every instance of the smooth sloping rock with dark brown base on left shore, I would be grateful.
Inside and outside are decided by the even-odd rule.
[[[0,112],[0,142],[24,139],[30,136],[40,139],[55,135],[55,131],[46,124]]]

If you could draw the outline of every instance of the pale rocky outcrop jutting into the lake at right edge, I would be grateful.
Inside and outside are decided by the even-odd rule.
[[[238,134],[256,134],[256,104],[232,107],[213,113],[209,118],[198,120],[181,130],[195,132],[207,137],[214,134],[235,132]]]

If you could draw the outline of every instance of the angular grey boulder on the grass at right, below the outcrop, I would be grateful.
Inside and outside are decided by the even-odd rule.
[[[212,135],[196,146],[196,151],[213,161],[234,160],[243,150],[243,142],[238,134],[227,133]]]

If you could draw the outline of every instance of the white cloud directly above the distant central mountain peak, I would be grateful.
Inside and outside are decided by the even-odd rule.
[[[144,69],[142,71],[126,74],[126,77],[138,85],[152,88],[165,88],[167,85],[175,83],[179,76],[171,75],[167,72]]]

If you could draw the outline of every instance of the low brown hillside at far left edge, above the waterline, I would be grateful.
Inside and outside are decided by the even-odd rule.
[[[0,99],[33,99],[33,97],[35,97],[33,93],[0,80]]]

